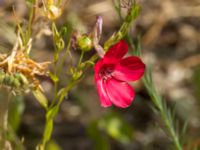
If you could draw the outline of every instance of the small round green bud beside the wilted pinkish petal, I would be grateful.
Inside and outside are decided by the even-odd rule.
[[[77,40],[78,47],[84,51],[90,51],[93,48],[92,39],[88,36],[81,36]]]

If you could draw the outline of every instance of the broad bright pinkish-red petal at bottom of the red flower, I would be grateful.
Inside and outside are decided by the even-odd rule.
[[[135,92],[128,83],[116,79],[107,81],[106,91],[111,102],[122,108],[128,107],[135,97]]]

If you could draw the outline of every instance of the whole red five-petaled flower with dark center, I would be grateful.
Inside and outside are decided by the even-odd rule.
[[[103,107],[114,104],[125,108],[135,97],[135,92],[127,81],[140,79],[144,74],[145,64],[136,56],[123,58],[127,52],[128,45],[125,41],[120,41],[95,64],[95,82]]]

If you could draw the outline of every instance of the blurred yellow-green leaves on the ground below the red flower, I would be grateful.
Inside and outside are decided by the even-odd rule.
[[[133,128],[116,112],[108,113],[93,121],[88,127],[88,133],[95,140],[98,150],[109,149],[107,136],[122,144],[128,144],[133,138]]]

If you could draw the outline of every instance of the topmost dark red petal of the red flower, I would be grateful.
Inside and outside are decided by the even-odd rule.
[[[128,44],[121,40],[106,52],[104,58],[121,59],[128,52]]]

